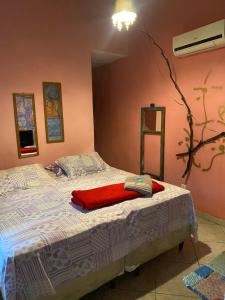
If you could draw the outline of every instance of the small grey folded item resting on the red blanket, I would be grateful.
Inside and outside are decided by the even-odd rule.
[[[136,191],[145,196],[152,196],[152,179],[149,175],[128,177],[124,184],[125,190]]]

